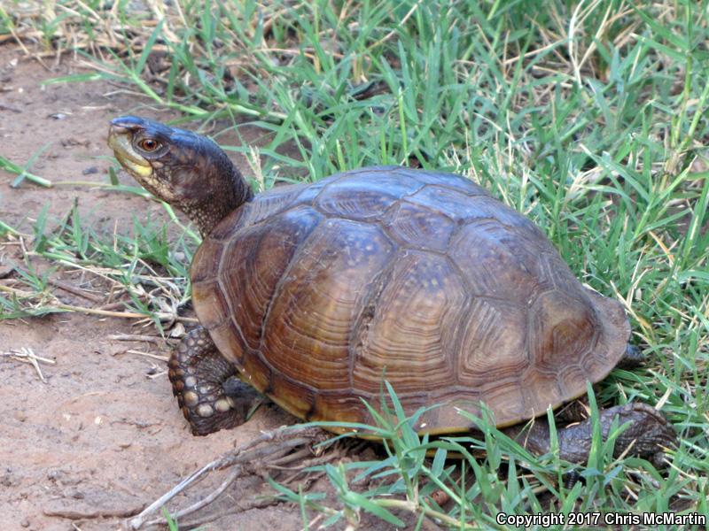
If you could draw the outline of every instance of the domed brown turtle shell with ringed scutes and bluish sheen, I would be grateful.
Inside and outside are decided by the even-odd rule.
[[[586,392],[625,351],[619,303],[469,180],[396,166],[256,196],[191,268],[199,320],[242,378],[301,419],[371,422],[389,381],[417,429],[498,426]]]

